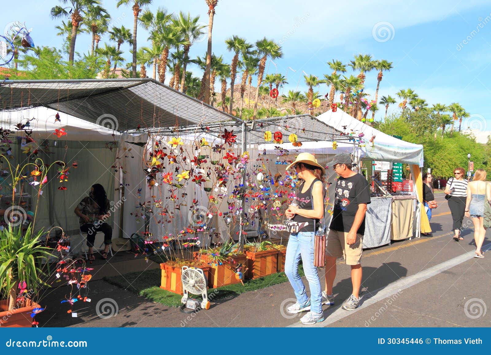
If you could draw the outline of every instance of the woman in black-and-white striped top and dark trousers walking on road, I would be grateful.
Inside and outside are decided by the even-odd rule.
[[[465,170],[462,167],[454,169],[453,178],[448,179],[445,187],[445,198],[454,220],[452,229],[455,231],[454,241],[462,241],[462,220],[464,219],[465,199],[467,198],[467,180],[464,179]]]

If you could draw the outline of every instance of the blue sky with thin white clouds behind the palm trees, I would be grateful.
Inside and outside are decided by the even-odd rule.
[[[117,9],[116,2],[103,1],[115,25],[133,28],[133,11],[124,6]],[[199,15],[203,25],[208,24],[204,0],[154,2],[152,9],[164,6],[170,12],[189,11]],[[0,13],[0,28],[16,20],[25,22],[27,28],[32,27],[36,45],[59,48],[62,39],[55,29],[59,20],[50,18],[50,9],[57,3],[9,2],[6,11],[4,6]],[[285,93],[288,89],[306,90],[303,72],[318,77],[329,74],[328,60],[348,63],[355,54],[370,54],[392,61],[394,66],[384,74],[379,98],[395,96],[399,89],[410,87],[430,105],[459,102],[471,114],[464,128],[491,131],[491,6],[487,0],[219,0],[216,12],[213,52],[223,55],[227,62],[232,54],[226,51],[224,40],[231,35],[251,43],[264,36],[281,41],[283,58],[269,62],[267,70],[287,74]],[[388,32],[378,34],[378,28]],[[146,37],[139,27],[138,46],[147,44]],[[108,41],[107,36],[104,41]],[[77,38],[76,50],[86,52],[89,44],[90,35],[83,34]],[[129,46],[123,45],[122,50],[129,58]],[[191,56],[205,52],[206,38],[191,47]],[[201,77],[198,68],[190,69]],[[372,94],[371,98],[375,96],[376,78],[375,71],[367,73],[365,91]],[[326,85],[318,90],[326,93]],[[389,113],[397,110],[394,105]],[[382,118],[383,111],[376,118]],[[482,136],[487,134],[481,132]]]

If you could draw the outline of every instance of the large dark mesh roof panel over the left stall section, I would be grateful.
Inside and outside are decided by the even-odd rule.
[[[0,82],[0,110],[38,106],[117,131],[240,121],[153,79]]]

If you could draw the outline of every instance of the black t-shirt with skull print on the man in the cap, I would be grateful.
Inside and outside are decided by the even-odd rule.
[[[370,203],[370,188],[363,175],[349,178],[339,177],[336,183],[334,209],[330,229],[349,232],[360,203]],[[365,218],[358,228],[358,234],[365,234]]]

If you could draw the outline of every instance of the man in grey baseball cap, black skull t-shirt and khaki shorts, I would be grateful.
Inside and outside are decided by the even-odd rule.
[[[326,249],[326,290],[322,303],[333,304],[332,285],[336,277],[336,259],[343,256],[351,265],[353,292],[344,301],[342,308],[353,311],[358,307],[361,286],[361,253],[365,234],[365,213],[370,203],[370,189],[367,180],[352,170],[351,156],[340,153],[327,163],[339,175],[335,188],[334,208],[327,235]]]

